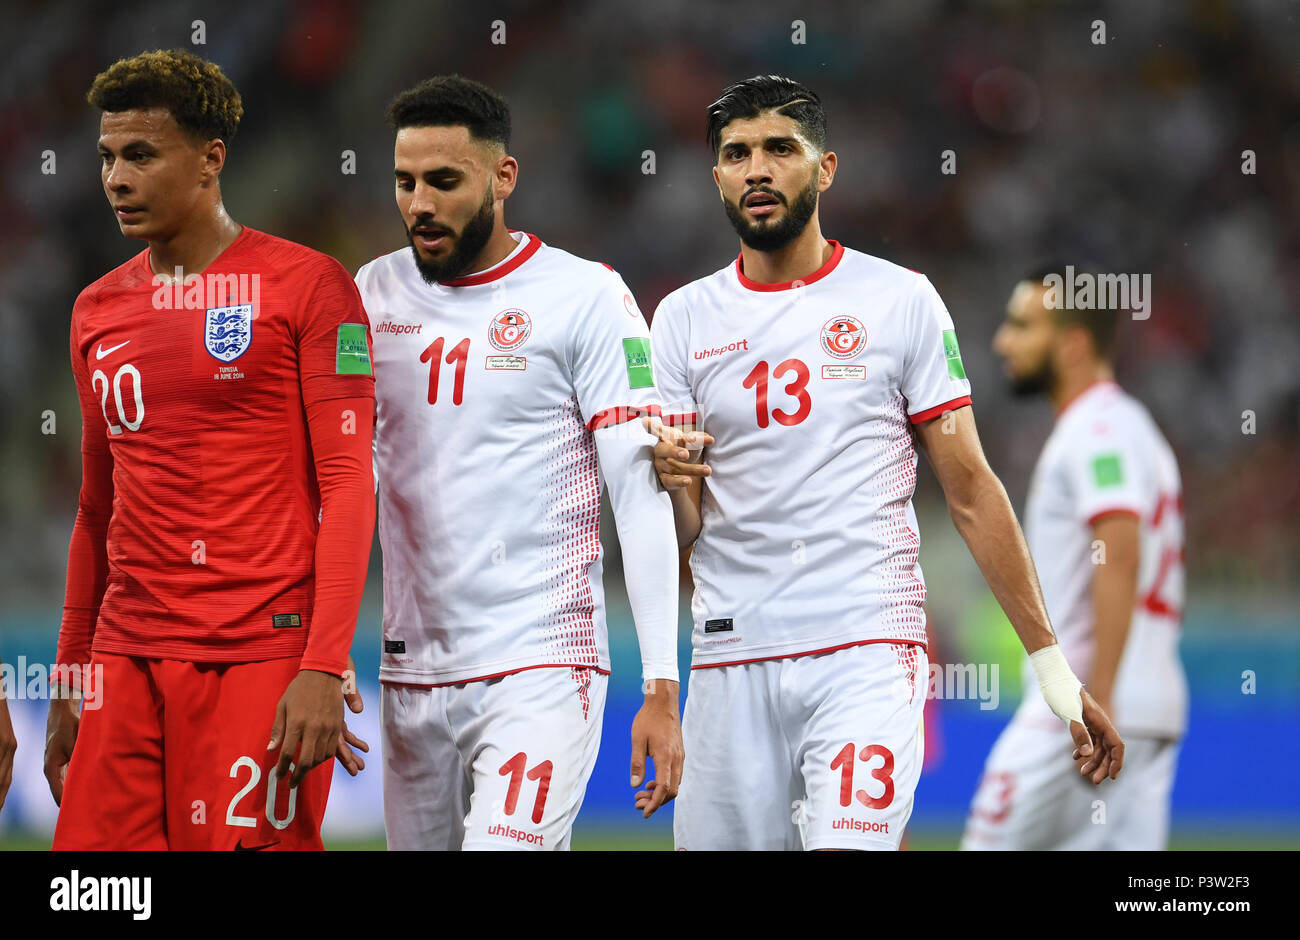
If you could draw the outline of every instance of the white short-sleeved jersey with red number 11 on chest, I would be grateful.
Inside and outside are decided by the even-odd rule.
[[[515,234],[425,283],[408,248],[358,272],[374,324],[384,657],[391,683],[610,668],[593,432],[658,415],[623,280]]]

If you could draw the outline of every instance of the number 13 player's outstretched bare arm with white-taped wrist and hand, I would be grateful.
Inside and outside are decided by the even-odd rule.
[[[1082,709],[1069,706],[1075,694],[1070,689],[1078,688],[1078,680],[1060,650],[1053,649],[1056,636],[1028,546],[1006,490],[984,458],[971,408],[965,406],[916,425],[916,445],[939,477],[953,524],[1031,654],[1044,698],[1058,715],[1069,716],[1079,772],[1095,784],[1106,776],[1114,779],[1123,766],[1123,741],[1106,712],[1082,688]]]

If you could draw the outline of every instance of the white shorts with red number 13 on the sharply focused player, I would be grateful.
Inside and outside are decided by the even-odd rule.
[[[692,671],[676,848],[897,849],[928,672],[892,642]]]

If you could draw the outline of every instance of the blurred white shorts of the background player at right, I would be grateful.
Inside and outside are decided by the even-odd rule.
[[[1179,742],[1124,737],[1118,780],[1093,785],[1070,754],[1065,722],[1017,712],[984,764],[962,849],[1160,850]]]

